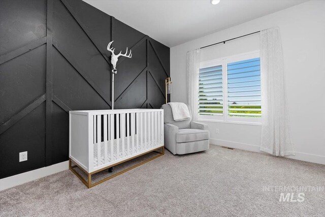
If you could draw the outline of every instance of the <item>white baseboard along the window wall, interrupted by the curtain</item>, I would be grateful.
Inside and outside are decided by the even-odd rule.
[[[232,142],[232,141],[226,141],[226,140],[222,140],[222,139],[210,139],[210,144],[221,145],[221,146],[226,146],[226,147],[236,148],[236,149],[241,149],[241,150],[247,150],[247,151],[265,153],[265,152],[259,150],[258,145],[252,145],[252,144],[246,144],[246,143],[240,143],[240,142]],[[307,162],[311,162],[311,163],[325,165],[325,156],[316,155],[316,154],[303,153],[303,152],[296,151],[295,156],[286,156],[285,158],[296,159],[296,160],[300,160],[300,161],[307,161]]]

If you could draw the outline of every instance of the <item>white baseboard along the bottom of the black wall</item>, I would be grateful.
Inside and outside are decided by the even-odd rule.
[[[69,161],[0,179],[0,191],[69,169]]]

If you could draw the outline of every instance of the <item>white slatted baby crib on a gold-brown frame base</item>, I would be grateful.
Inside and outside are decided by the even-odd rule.
[[[70,111],[69,131],[69,168],[88,188],[164,155],[163,109]],[[158,154],[91,183],[92,174],[151,151]],[[87,181],[74,169],[77,166],[88,175]]]

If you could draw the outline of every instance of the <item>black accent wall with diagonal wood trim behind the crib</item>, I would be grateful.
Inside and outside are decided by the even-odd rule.
[[[69,158],[69,110],[160,108],[170,48],[81,0],[0,1],[0,178]],[[28,161],[19,163],[19,152]]]

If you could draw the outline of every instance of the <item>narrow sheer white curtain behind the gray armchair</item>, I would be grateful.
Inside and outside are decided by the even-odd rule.
[[[187,52],[186,90],[187,104],[191,108],[192,120],[198,119],[200,49]]]

